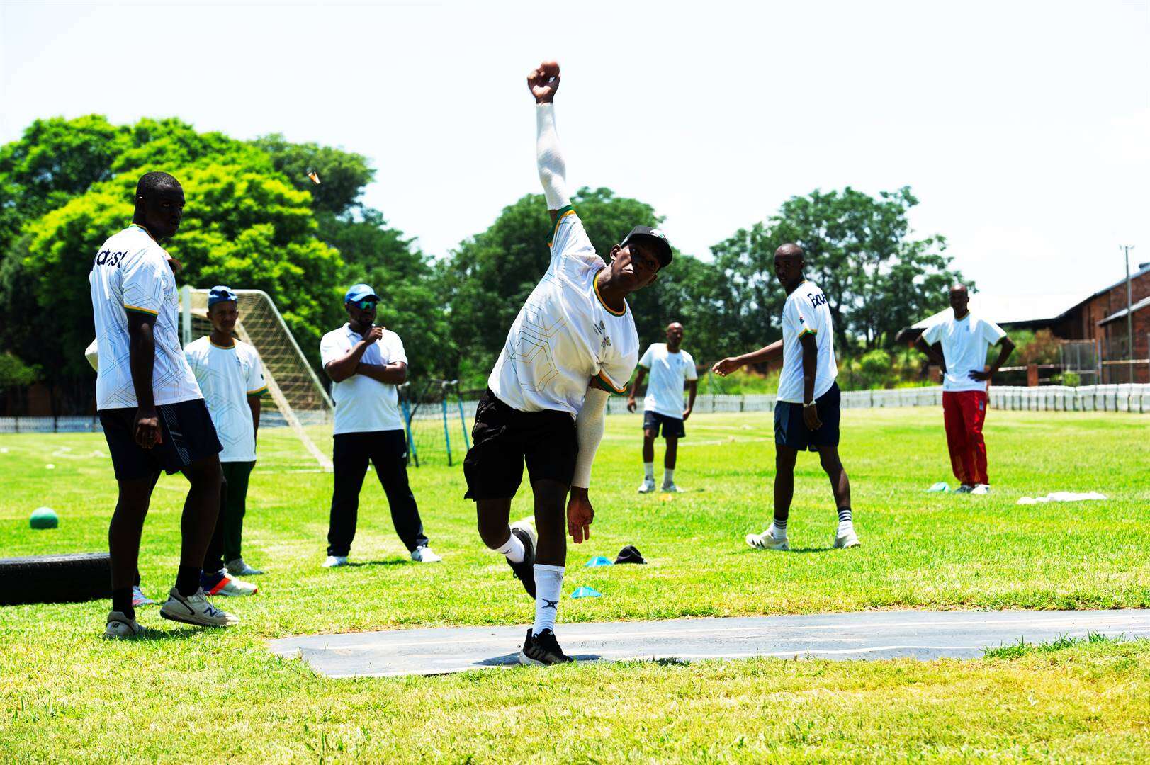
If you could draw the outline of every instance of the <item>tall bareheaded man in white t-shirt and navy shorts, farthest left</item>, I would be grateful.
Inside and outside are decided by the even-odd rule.
[[[159,240],[171,237],[184,191],[167,173],[136,185],[132,224],[103,243],[89,274],[99,353],[95,407],[108,442],[120,498],[108,527],[112,612],[106,637],[143,630],[132,606],[140,534],[161,471],[191,483],[179,528],[176,586],[160,615],[224,627],[239,620],[215,609],[200,589],[204,553],[220,512],[220,439],[195,376],[179,347],[176,263]]]

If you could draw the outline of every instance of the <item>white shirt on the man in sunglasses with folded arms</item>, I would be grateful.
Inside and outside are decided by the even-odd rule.
[[[337,361],[352,350],[362,337],[352,331],[351,324],[334,329],[320,341],[320,361],[324,367]],[[390,329],[371,344],[360,358],[362,364],[386,366],[402,361],[407,364],[404,343]],[[389,383],[371,380],[367,375],[352,375],[343,382],[331,383],[331,400],[336,403],[336,427],[332,435],[342,433],[375,433],[377,430],[402,430],[404,418],[399,413],[399,390]]]

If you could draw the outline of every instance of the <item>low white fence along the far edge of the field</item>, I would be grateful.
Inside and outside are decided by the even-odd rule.
[[[463,401],[463,419],[475,418],[476,401]],[[641,404],[642,406],[642,404]],[[888,408],[897,406],[942,406],[942,388],[899,388],[896,390],[852,390],[843,392],[843,408]],[[707,393],[695,399],[695,413],[708,412],[769,412],[775,397],[767,393],[724,396]],[[1043,385],[1023,388],[990,387],[990,407],[1028,412],[1134,412],[1150,413],[1150,385]],[[300,413],[320,415],[319,412]],[[607,403],[607,414],[627,414],[627,399],[613,396]],[[438,419],[436,407],[416,414],[416,419]],[[454,412],[448,412],[454,416]],[[302,424],[330,422],[328,416],[300,416]],[[277,412],[261,413],[261,427],[282,427],[284,420]],[[60,418],[0,418],[0,433],[100,433],[97,416]]]

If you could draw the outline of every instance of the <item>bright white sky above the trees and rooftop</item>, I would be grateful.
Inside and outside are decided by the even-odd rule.
[[[437,255],[538,189],[523,77],[554,58],[572,186],[652,204],[684,252],[911,185],[986,292],[1150,261],[1148,0],[0,3],[0,141],[95,112],[342,146]]]

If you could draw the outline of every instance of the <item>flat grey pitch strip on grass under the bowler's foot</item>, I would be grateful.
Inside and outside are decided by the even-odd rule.
[[[975,658],[986,648],[1088,633],[1150,637],[1150,610],[861,611],[810,617],[736,617],[561,624],[564,651],[581,661]],[[284,637],[271,652],[300,657],[330,678],[444,674],[516,664],[527,626],[440,627]]]

